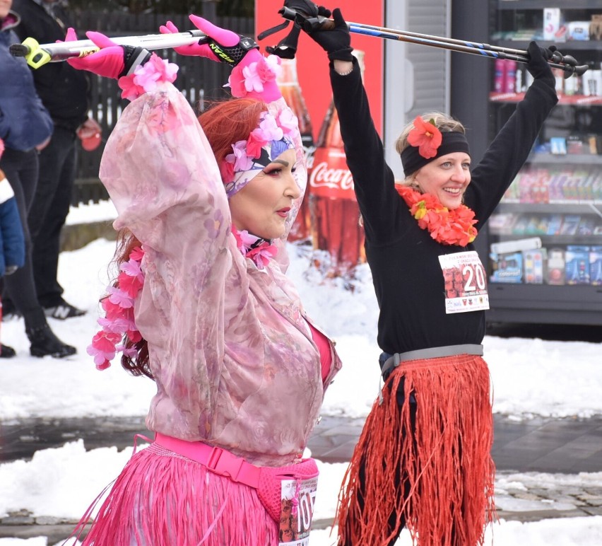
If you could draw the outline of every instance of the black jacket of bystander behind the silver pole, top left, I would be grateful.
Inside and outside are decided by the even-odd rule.
[[[51,15],[34,0],[13,0],[13,10],[20,16],[16,33],[19,41],[33,37],[40,44],[64,40],[71,21],[57,2]],[[35,88],[49,110],[54,124],[75,131],[88,119],[88,76],[66,62],[50,62],[33,70]]]

